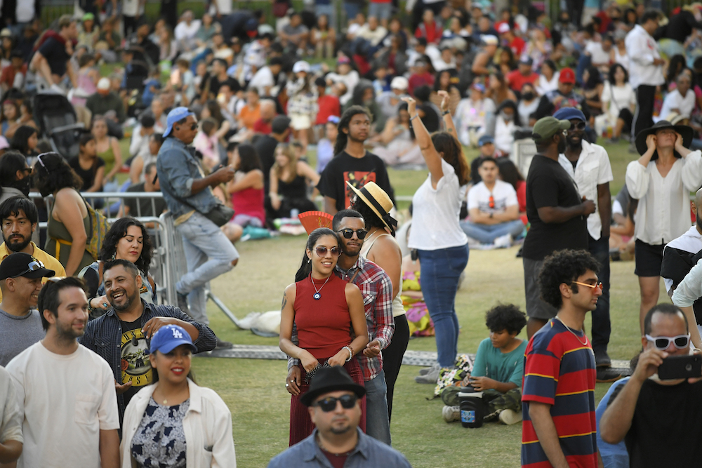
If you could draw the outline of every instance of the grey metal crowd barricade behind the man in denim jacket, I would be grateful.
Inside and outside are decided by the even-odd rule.
[[[136,203],[137,213],[129,213],[129,216],[143,222],[147,227],[152,243],[154,246],[154,255],[152,257],[149,272],[154,278],[157,285],[157,296],[161,304],[177,305],[178,298],[176,296],[176,283],[183,274],[187,273],[187,262],[185,260],[185,250],[183,250],[183,238],[180,236],[174,225],[173,215],[171,213],[156,213],[156,201],[163,198],[161,192],[81,192],[81,195],[91,203],[91,206],[102,206],[108,208],[107,220],[112,223],[117,220],[117,215],[124,207],[126,199],[150,199],[151,213],[155,216],[150,216],[151,213],[141,213],[140,203]],[[41,194],[32,192],[29,198],[41,198]],[[53,196],[44,198],[49,212],[53,205]],[[147,214],[145,216],[144,214]],[[40,228],[46,229],[46,222],[39,223]],[[217,307],[234,323],[239,326],[239,320],[230,309],[216,295],[212,293],[210,288],[206,290],[206,297],[215,303]],[[240,328],[240,327],[239,327]]]

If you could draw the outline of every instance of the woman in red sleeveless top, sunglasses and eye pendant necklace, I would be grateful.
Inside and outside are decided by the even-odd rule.
[[[290,445],[312,434],[314,424],[300,396],[318,366],[344,366],[363,385],[363,374],[354,356],[368,343],[368,328],[359,288],[334,274],[341,255],[336,233],[322,227],[307,239],[296,283],[285,288],[280,319],[280,349],[298,360],[288,373],[285,387],[290,401]],[[295,333],[295,339],[293,339]],[[361,400],[360,427],[366,429],[366,399]]]

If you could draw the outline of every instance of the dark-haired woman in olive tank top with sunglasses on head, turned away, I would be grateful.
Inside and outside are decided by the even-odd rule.
[[[39,154],[32,172],[41,196],[53,194],[44,250],[61,262],[67,276],[73,276],[95,260],[86,250],[91,220],[79,192],[83,181],[63,156],[54,152]]]

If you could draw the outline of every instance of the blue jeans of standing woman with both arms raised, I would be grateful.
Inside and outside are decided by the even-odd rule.
[[[439,366],[452,367],[458,352],[456,291],[468,265],[468,245],[418,250],[424,302],[434,321]]]

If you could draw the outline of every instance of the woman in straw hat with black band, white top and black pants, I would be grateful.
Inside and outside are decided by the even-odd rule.
[[[409,325],[401,297],[402,250],[395,240],[397,221],[390,217],[390,210],[393,207],[390,196],[375,182],[367,183],[360,190],[354,187],[352,189],[356,193],[356,199],[351,203],[351,208],[361,213],[368,231],[360,255],[382,268],[392,282],[392,317],[395,319],[395,333],[392,334],[390,345],[381,352],[387,387],[388,420],[391,420],[395,382],[402,366],[402,356],[409,343]]]

